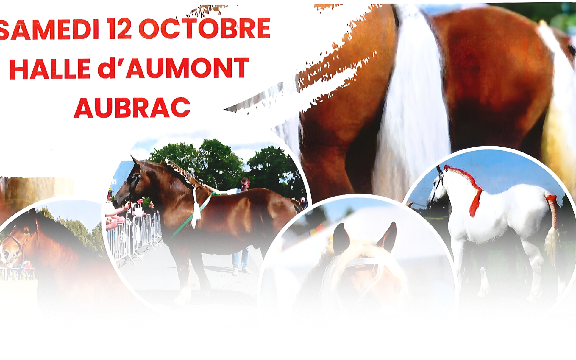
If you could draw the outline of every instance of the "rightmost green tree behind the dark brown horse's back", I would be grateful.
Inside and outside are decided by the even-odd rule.
[[[286,198],[306,197],[304,181],[294,161],[280,147],[268,146],[248,160],[251,188],[266,188]]]

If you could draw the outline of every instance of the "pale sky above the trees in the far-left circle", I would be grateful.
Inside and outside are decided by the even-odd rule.
[[[59,200],[36,207],[37,210],[47,208],[55,218],[79,220],[92,231],[101,221],[102,205],[86,200]]]

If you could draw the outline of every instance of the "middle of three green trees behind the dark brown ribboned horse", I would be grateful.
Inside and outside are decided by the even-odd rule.
[[[244,162],[233,153],[232,147],[217,139],[205,139],[198,149],[194,177],[218,190],[238,188],[244,177]]]

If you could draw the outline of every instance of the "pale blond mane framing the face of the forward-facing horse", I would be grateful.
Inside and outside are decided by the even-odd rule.
[[[350,246],[340,255],[334,257],[332,262],[326,268],[324,272],[324,277],[322,279],[322,288],[320,290],[321,296],[321,308],[326,313],[333,313],[339,310],[338,304],[338,285],[340,279],[348,264],[351,261],[360,259],[362,257],[371,257],[375,259],[378,263],[378,273],[374,282],[370,286],[366,287],[366,290],[360,295],[360,299],[365,297],[370,288],[380,281],[382,274],[384,274],[385,269],[391,272],[392,275],[396,276],[400,280],[401,289],[398,294],[399,298],[399,310],[400,307],[406,307],[408,305],[408,282],[406,280],[406,274],[396,262],[394,257],[386,251],[384,248],[376,246],[374,242],[362,241],[362,240],[351,240]]]

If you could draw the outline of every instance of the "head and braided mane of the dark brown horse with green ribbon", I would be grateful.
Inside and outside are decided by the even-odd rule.
[[[132,168],[130,175],[128,175],[122,187],[114,196],[112,204],[116,208],[124,206],[128,201],[135,202],[142,196],[150,196],[152,191],[150,185],[156,184],[160,180],[161,172],[166,169],[179,173],[180,180],[184,185],[191,188],[202,187],[202,184],[190,176],[187,171],[167,159],[166,164],[158,164],[147,160],[138,161],[134,157],[132,157],[132,161],[134,161],[134,168]]]

